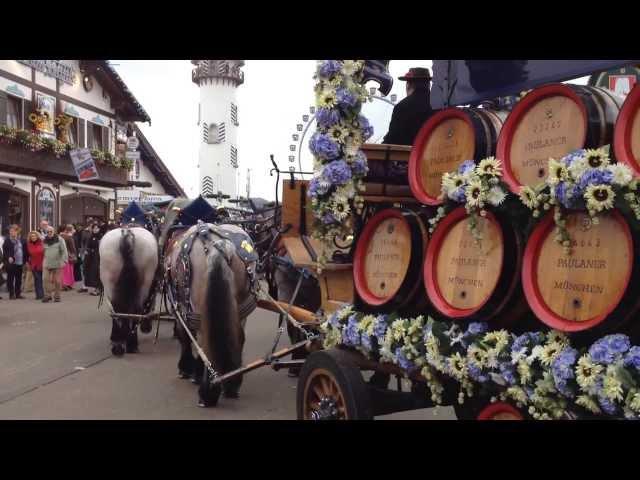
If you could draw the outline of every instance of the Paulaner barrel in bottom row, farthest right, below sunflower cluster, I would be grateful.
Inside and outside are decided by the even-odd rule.
[[[638,295],[630,289],[637,285],[640,242],[618,211],[601,215],[598,225],[588,214],[573,212],[566,225],[573,242],[571,255],[554,239],[552,213],[533,230],[522,268],[527,302],[551,328],[611,333],[638,308]]]

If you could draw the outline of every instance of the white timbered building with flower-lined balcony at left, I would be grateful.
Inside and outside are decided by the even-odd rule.
[[[136,178],[150,193],[183,195],[135,122],[150,118],[107,61],[0,60],[1,231],[43,218],[56,227],[114,220],[119,191]],[[130,136],[141,137],[133,168]],[[98,179],[78,180],[70,148],[91,150]]]

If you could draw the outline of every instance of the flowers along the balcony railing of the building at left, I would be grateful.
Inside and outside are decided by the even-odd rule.
[[[55,138],[43,137],[29,130],[16,129],[6,125],[0,125],[0,142],[9,145],[19,144],[31,152],[49,151],[57,158],[64,156],[73,148],[72,145]],[[131,170],[133,166],[131,160],[116,157],[111,152],[91,150],[91,156],[101,165],[110,165],[125,170]]]

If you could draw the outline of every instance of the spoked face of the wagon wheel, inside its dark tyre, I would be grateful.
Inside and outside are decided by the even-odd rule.
[[[318,418],[322,415],[321,402],[330,399],[337,415]],[[326,401],[325,401],[326,403]],[[305,420],[349,420],[344,394],[335,376],[324,368],[314,370],[307,378],[304,386],[304,415]]]

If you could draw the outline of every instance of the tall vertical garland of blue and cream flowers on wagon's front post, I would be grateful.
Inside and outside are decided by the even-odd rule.
[[[336,236],[353,234],[351,213],[363,207],[363,179],[367,158],[362,144],[373,128],[360,115],[369,95],[362,85],[364,60],[324,60],[314,79],[317,130],[309,141],[314,175],[309,196],[315,216],[314,237],[323,242],[318,258],[322,268]]]

